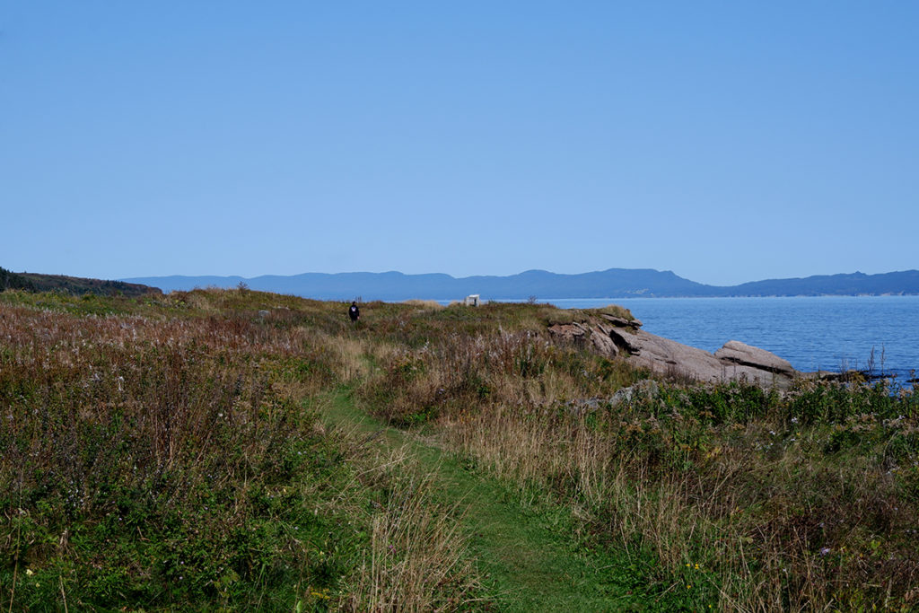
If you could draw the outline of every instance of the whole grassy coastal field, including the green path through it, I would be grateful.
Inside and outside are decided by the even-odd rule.
[[[361,307],[0,293],[0,606],[919,607],[912,392],[652,380],[548,305]]]

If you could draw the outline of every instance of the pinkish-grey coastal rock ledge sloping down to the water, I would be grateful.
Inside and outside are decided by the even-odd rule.
[[[645,332],[638,320],[607,314],[550,325],[549,333],[556,341],[592,346],[607,358],[624,358],[640,368],[695,380],[746,380],[784,389],[799,374],[788,360],[766,349],[728,341],[712,354]]]

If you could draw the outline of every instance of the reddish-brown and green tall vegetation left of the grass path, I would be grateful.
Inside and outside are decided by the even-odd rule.
[[[344,310],[243,290],[22,300],[0,303],[5,607],[354,610],[385,586],[402,610],[471,597],[469,563],[444,553],[462,555],[449,510],[400,481],[404,461],[304,408],[367,375]],[[126,306],[144,314],[84,314]],[[380,502],[400,491],[416,496],[401,514]],[[425,584],[425,566],[444,581]]]

